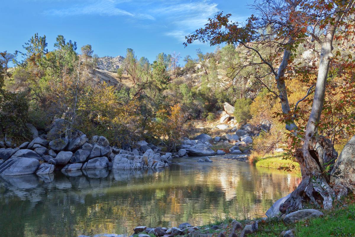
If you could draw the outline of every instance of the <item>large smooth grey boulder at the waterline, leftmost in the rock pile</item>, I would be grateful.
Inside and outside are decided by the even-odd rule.
[[[5,169],[2,174],[6,176],[33,174],[39,166],[39,161],[34,158],[20,158]]]

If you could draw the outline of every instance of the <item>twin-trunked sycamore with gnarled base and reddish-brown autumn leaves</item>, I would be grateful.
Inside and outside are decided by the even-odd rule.
[[[332,207],[335,192],[329,173],[337,152],[333,142],[322,133],[320,124],[327,82],[332,79],[329,68],[332,61],[343,56],[339,50],[333,52],[333,41],[346,44],[354,36],[354,5],[354,0],[260,0],[252,6],[256,14],[246,23],[231,22],[230,14],[219,13],[204,28],[186,37],[185,46],[198,40],[211,45],[229,43],[244,47],[250,57],[240,68],[267,67],[266,71],[256,68],[256,78],[279,99],[282,110],[279,115],[296,141],[293,156],[302,173],[301,183],[280,208],[282,212],[302,208],[302,200],[310,200],[314,205],[319,200],[325,209]],[[296,49],[302,44],[315,51],[319,49],[317,64],[301,67],[294,63]],[[267,48],[273,50],[268,52]],[[351,60],[348,57],[340,61]],[[301,75],[309,83],[305,96],[294,105],[289,103],[285,83],[291,74]],[[270,76],[275,87],[264,83]],[[310,95],[311,111],[304,126],[299,126],[297,105]]]

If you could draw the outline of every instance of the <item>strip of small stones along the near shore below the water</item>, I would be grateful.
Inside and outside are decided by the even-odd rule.
[[[253,220],[236,221],[229,217],[219,223],[205,226],[193,226],[190,223],[181,223],[178,227],[147,227],[137,226],[129,237],[245,237],[248,234],[258,233],[258,236],[282,236],[294,237],[295,225],[322,217],[323,212],[315,209],[304,209],[289,214],[274,216],[272,218],[263,217]],[[279,226],[282,226],[279,228]],[[271,229],[270,229],[271,228]],[[274,228],[274,229],[272,229]],[[272,232],[275,235],[268,235]],[[275,233],[278,232],[278,233]],[[126,237],[126,234],[98,234],[93,237]],[[79,235],[78,237],[91,237]]]

